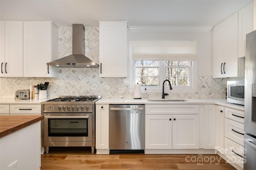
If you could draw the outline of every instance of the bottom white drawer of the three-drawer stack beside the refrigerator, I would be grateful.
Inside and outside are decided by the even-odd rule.
[[[225,153],[227,162],[233,162],[244,168],[244,146],[225,137]]]

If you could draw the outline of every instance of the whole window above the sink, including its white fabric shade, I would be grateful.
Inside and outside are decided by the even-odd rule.
[[[168,92],[196,92],[195,41],[131,41],[130,56],[130,89],[140,83],[148,92],[159,93],[168,79],[173,88]]]

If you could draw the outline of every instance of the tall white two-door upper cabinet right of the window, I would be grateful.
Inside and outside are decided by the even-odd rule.
[[[213,77],[238,76],[238,12],[214,26]]]

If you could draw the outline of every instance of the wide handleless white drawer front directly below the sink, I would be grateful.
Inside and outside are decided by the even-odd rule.
[[[199,114],[198,105],[146,105],[146,115]]]

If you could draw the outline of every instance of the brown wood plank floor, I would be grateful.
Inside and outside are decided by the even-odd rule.
[[[216,154],[91,154],[90,147],[51,147],[41,170],[143,169],[235,170]],[[202,158],[202,159],[200,159]]]

